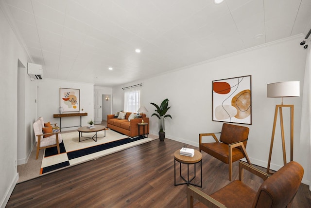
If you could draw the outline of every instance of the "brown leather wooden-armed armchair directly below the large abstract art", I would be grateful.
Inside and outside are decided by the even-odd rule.
[[[232,180],[232,163],[242,158],[246,158],[248,164],[251,162],[246,153],[246,144],[248,140],[249,129],[243,126],[232,124],[223,124],[220,133],[220,142],[215,133],[199,134],[199,150],[221,160],[229,165],[229,180]],[[202,143],[203,136],[212,136],[216,142]]]

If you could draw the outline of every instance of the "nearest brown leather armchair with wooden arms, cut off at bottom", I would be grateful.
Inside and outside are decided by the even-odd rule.
[[[261,177],[263,183],[258,191],[242,183],[243,170]],[[276,171],[271,177],[268,173],[253,166],[239,162],[239,180],[235,180],[210,196],[192,186],[187,188],[188,208],[289,208],[300,186],[304,170],[297,162],[291,161]]]

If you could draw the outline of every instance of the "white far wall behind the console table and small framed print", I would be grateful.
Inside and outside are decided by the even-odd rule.
[[[53,118],[58,114],[60,105],[59,88],[80,89],[80,110],[83,108],[87,116],[82,116],[83,126],[87,121],[94,120],[94,84],[70,82],[56,79],[43,78],[37,81],[38,84],[38,117],[42,116],[44,122],[57,123],[60,125],[60,118]],[[78,110],[79,111],[79,110]],[[70,113],[70,112],[69,112]],[[62,127],[79,126],[80,117],[63,117]],[[76,130],[79,127],[65,128],[62,131]]]

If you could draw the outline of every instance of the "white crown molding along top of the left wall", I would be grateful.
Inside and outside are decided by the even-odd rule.
[[[22,38],[16,24],[15,21],[13,19],[13,16],[5,2],[5,0],[0,0],[0,9],[3,11],[3,14],[5,16],[5,18],[7,19],[9,25],[11,26],[11,29],[13,30],[13,33],[15,34],[17,41],[19,42],[19,44],[21,45],[21,47],[24,49],[26,55],[27,55],[27,59],[30,62],[34,62],[33,57],[30,55],[29,50],[26,46],[26,43],[24,41],[24,39]]]

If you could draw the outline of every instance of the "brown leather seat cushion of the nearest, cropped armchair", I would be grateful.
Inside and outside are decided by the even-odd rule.
[[[256,191],[236,180],[210,196],[227,208],[251,208]]]

